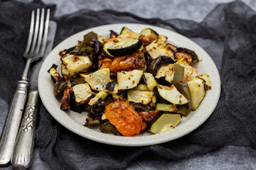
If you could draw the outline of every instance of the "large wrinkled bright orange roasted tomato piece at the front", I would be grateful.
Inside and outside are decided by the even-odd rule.
[[[146,128],[142,115],[127,100],[115,101],[105,108],[105,116],[124,136],[131,137]]]

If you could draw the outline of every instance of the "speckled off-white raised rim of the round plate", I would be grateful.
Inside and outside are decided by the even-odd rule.
[[[102,29],[102,28],[108,28],[108,27],[122,27],[122,26],[127,26],[129,28],[129,26],[131,27],[151,27],[152,29],[156,29],[156,30],[165,30],[165,32],[169,32],[171,35],[176,35],[178,37],[180,37],[181,39],[183,40],[186,40],[186,42],[192,44],[194,47],[198,48],[198,50],[201,50],[201,52],[204,52],[205,53],[205,57],[207,58],[208,62],[212,62],[211,64],[211,67],[213,67],[214,71],[215,71],[215,78],[214,81],[215,81],[215,84],[216,84],[216,89],[215,89],[215,93],[217,94],[217,96],[215,96],[216,99],[216,102],[213,103],[213,107],[210,108],[210,110],[208,110],[208,115],[205,115],[205,117],[199,122],[196,124],[196,126],[193,126],[193,128],[188,128],[188,130],[186,130],[186,132],[183,132],[181,133],[180,135],[175,135],[175,137],[172,137],[170,132],[164,132],[164,133],[161,133],[161,134],[156,134],[156,135],[148,135],[148,136],[135,136],[135,137],[123,137],[123,136],[112,136],[112,135],[107,135],[107,134],[104,134],[104,133],[101,133],[101,132],[96,132],[94,130],[91,130],[90,128],[87,128],[89,130],[82,130],[82,128],[85,128],[84,126],[80,125],[80,128],[78,127],[78,123],[75,122],[75,120],[73,120],[72,118],[70,118],[70,116],[68,116],[68,114],[65,114],[65,112],[63,111],[60,111],[60,108],[59,106],[57,107],[58,110],[55,110],[57,112],[63,112],[64,115],[67,115],[69,118],[66,118],[66,119],[60,119],[58,118],[58,114],[56,113],[53,113],[53,108],[50,107],[50,105],[47,103],[47,98],[45,96],[45,94],[43,94],[43,90],[44,90],[44,86],[43,86],[43,83],[46,83],[46,81],[43,81],[42,77],[44,75],[43,72],[46,71],[46,62],[48,62],[49,60],[49,57],[51,55],[53,55],[53,53],[60,49],[61,45],[63,45],[64,42],[66,42],[67,40],[70,40],[72,38],[74,38],[75,36],[77,35],[80,35],[82,33],[87,33],[89,32],[90,30],[95,30],[95,29]],[[99,34],[100,35],[100,34]],[[169,37],[169,35],[166,35],[167,37]],[[188,43],[188,44],[189,44]],[[193,49],[192,49],[193,50]],[[51,63],[53,64],[53,62]],[[210,115],[213,113],[213,111],[215,110],[215,107],[217,106],[218,104],[218,101],[219,101],[219,98],[220,98],[220,74],[218,72],[218,69],[215,65],[215,63],[213,62],[213,60],[211,59],[210,55],[208,55],[208,53],[203,50],[202,47],[200,47],[199,45],[196,44],[196,42],[193,42],[192,40],[190,40],[189,38],[186,38],[185,36],[179,34],[179,33],[176,33],[172,30],[168,30],[166,28],[161,28],[161,27],[158,27],[158,26],[151,26],[149,24],[139,24],[139,23],[117,23],[117,24],[108,24],[108,25],[104,25],[104,26],[97,26],[97,27],[94,27],[94,28],[88,28],[86,30],[82,30],[78,33],[75,33],[73,35],[71,35],[70,37],[66,38],[65,40],[63,40],[62,42],[60,42],[56,47],[54,47],[54,49],[48,54],[48,56],[46,57],[45,61],[43,62],[42,64],[42,67],[40,69],[40,72],[39,72],[39,75],[38,75],[38,91],[39,91],[39,94],[41,96],[41,101],[43,102],[43,105],[46,107],[46,110],[50,113],[50,115],[53,116],[53,118],[58,121],[58,123],[60,123],[61,125],[63,125],[65,128],[67,128],[68,130],[74,132],[75,134],[77,135],[80,135],[82,137],[85,137],[89,140],[93,140],[95,142],[101,142],[101,143],[104,143],[104,144],[107,144],[107,145],[117,145],[117,146],[126,146],[126,147],[139,147],[139,146],[147,146],[147,145],[156,145],[156,144],[160,144],[160,143],[164,143],[164,142],[169,142],[171,140],[176,140],[178,139],[179,137],[183,137],[184,135],[187,135],[188,133],[192,132],[193,130],[196,130],[196,128],[198,128],[199,126],[201,126],[209,117]],[[207,94],[206,94],[207,96]],[[57,99],[55,99],[57,100]],[[200,106],[199,106],[200,108]],[[75,123],[75,124],[74,124]],[[178,127],[178,126],[177,126]],[[176,127],[176,128],[177,128]],[[175,129],[176,129],[175,128]],[[85,132],[88,132],[87,134],[84,133]],[[93,132],[92,132],[93,131]],[[97,135],[93,135],[93,133],[97,134]],[[166,137],[166,135],[170,135],[169,137]],[[104,136],[107,136],[107,137],[104,137]],[[100,137],[100,138],[99,138]],[[109,138],[112,138],[112,140],[110,140]],[[142,139],[144,138],[142,141],[140,141],[139,139]],[[151,138],[158,138],[159,140],[152,140]],[[118,140],[119,139],[119,140]],[[125,139],[125,140],[124,140]]]

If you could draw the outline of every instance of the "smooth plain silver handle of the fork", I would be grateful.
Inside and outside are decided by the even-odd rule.
[[[14,98],[4,124],[4,130],[0,140],[0,165],[6,165],[11,160],[14,143],[21,124],[23,108],[26,103],[28,81],[18,81]]]

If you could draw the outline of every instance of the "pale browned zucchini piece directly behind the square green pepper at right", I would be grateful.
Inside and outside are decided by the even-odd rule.
[[[178,60],[176,64],[184,67],[184,74],[183,74],[183,81],[190,81],[191,79],[195,78],[198,75],[196,69],[191,67],[184,58]]]

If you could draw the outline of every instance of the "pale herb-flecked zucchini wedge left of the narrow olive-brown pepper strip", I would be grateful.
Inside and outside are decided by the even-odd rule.
[[[155,86],[154,94],[160,101],[169,101],[177,105],[188,103],[188,100],[176,89],[174,84],[171,86]]]

